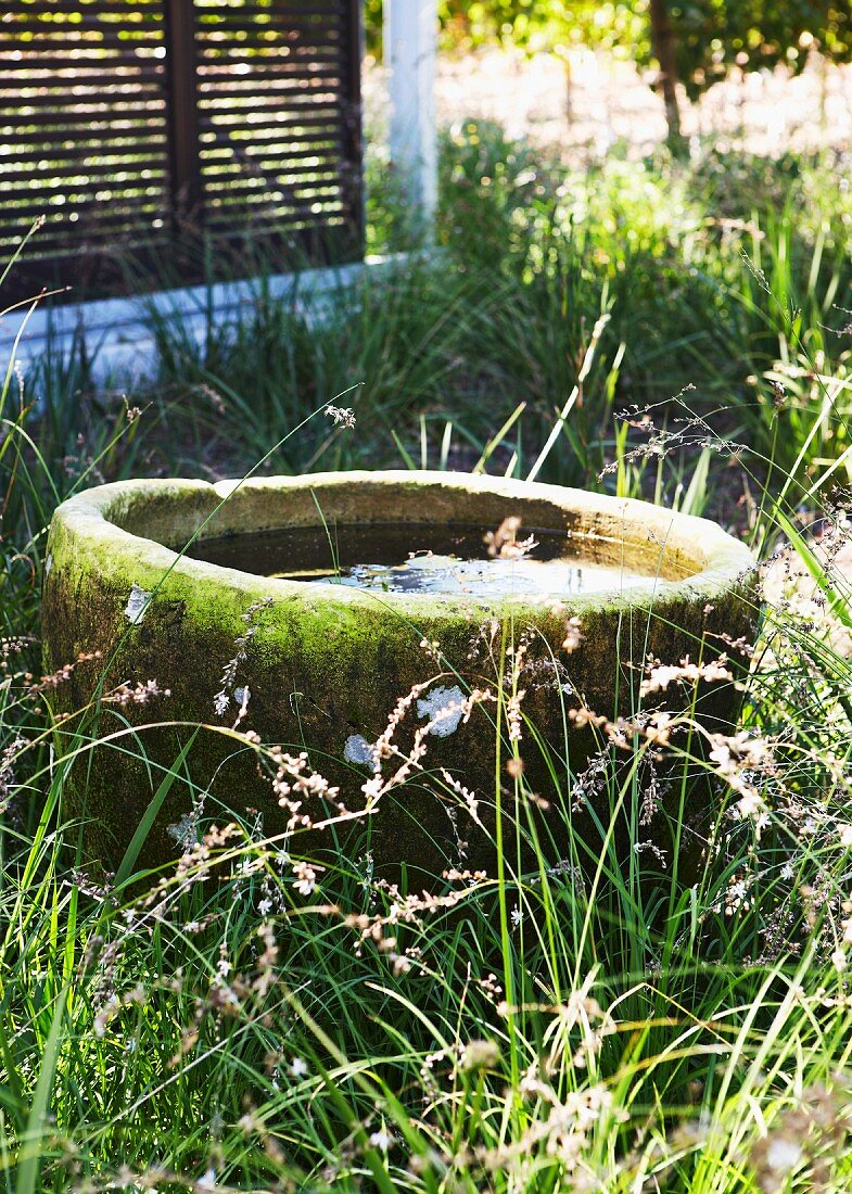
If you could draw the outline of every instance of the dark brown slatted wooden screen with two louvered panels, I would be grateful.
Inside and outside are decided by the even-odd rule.
[[[363,251],[358,0],[6,0],[0,293]]]

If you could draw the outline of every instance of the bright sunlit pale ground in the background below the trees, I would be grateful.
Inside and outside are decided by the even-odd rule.
[[[644,155],[665,140],[662,103],[652,90],[652,76],[642,76],[630,62],[588,50],[575,51],[569,66],[549,54],[444,55],[436,87],[438,122],[499,121],[511,135],[558,146],[580,161],[603,156],[618,143]],[[368,64],[365,101],[373,127],[381,124],[385,98],[383,69]],[[686,136],[714,137],[726,148],[736,144],[771,156],[852,144],[852,67],[834,67],[815,55],[798,76],[782,68],[737,73],[697,104],[685,96],[681,100]]]

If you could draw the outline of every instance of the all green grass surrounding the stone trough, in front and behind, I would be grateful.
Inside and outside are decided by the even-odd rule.
[[[2,390],[10,1194],[852,1186],[852,675],[838,623],[823,621],[829,611],[848,633],[850,580],[802,533],[819,517],[835,546],[847,535],[842,492],[829,500],[852,458],[841,171],[714,150],[567,172],[476,123],[443,155],[442,252],[376,279],[326,325],[263,283],[254,309],[211,327],[202,350],[161,321],[161,376],[146,395],[156,405],[131,424],[56,356],[26,380],[37,408],[21,410],[8,380]],[[294,864],[310,860],[307,843],[296,835],[284,853],[251,818],[152,896],[125,874],[110,886],[74,872],[79,826],[62,812],[30,639],[53,504],[93,462],[105,478],[233,473],[340,378],[365,383],[351,400],[358,426],[327,442],[314,420],[277,467],[399,462],[401,444],[418,463],[523,475],[558,427],[601,313],[584,401],[545,479],[709,505],[767,555],[789,537],[791,567],[814,580],[813,598],[765,616],[746,737],[712,758],[687,722],[667,747],[601,739],[585,777],[554,744],[552,818],[573,817],[582,783],[607,794],[591,869],[578,838],[562,858],[539,843],[526,872],[507,848],[499,878],[437,879],[447,904],[409,905],[408,893],[372,874],[366,837],[360,853],[326,857],[305,893]],[[130,401],[144,406],[142,390]],[[737,468],[735,439],[747,442]],[[510,672],[511,645],[507,630],[495,648]],[[521,733],[507,744],[520,756],[535,725]],[[646,844],[657,749],[674,808],[706,811],[689,886]],[[175,786],[183,762],[175,752]],[[533,796],[517,769],[501,767],[498,784],[508,844]],[[763,801],[751,813],[743,786]],[[221,823],[212,805],[204,816],[202,830]]]

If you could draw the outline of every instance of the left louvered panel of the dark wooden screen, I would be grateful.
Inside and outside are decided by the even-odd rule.
[[[2,257],[38,216],[47,222],[0,302],[10,290],[116,284],[116,246],[134,251],[166,235],[165,57],[160,0],[7,0],[0,17]]]

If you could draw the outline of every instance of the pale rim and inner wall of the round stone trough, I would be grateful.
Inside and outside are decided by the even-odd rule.
[[[567,598],[561,598],[558,593],[545,597],[483,597],[433,592],[378,593],[321,583],[308,586],[304,581],[258,576],[184,554],[196,538],[315,527],[319,515],[313,496],[319,491],[335,500],[332,517],[341,524],[410,523],[422,527],[432,522],[447,524],[459,521],[468,525],[482,525],[487,530],[496,528],[507,515],[519,515],[525,529],[566,530],[569,538],[575,537],[579,542],[585,538],[623,543],[626,550],[657,544],[661,562],[665,560],[667,566],[677,564],[687,573],[689,570],[694,571],[681,579],[660,577],[653,590],[625,584],[617,591]],[[282,494],[292,499],[302,496],[308,500],[301,506],[298,503],[276,503],[276,497]],[[408,504],[400,506],[400,498],[408,499]],[[410,499],[415,499],[413,504]],[[480,510],[479,505],[483,509]],[[461,517],[453,519],[457,506],[464,509]],[[538,517],[530,518],[531,513]],[[552,525],[560,518],[562,525]],[[644,538],[638,537],[638,531]],[[745,543],[717,523],[694,515],[632,498],[615,498],[538,481],[431,470],[353,470],[215,484],[159,478],[116,481],[75,494],[57,507],[51,529],[53,544],[49,544],[45,561],[48,572],[53,567],[54,550],[66,535],[94,548],[98,564],[110,573],[137,570],[134,584],[138,585],[146,601],[140,602],[137,613],[129,611],[131,622],[141,621],[147,601],[174,573],[199,585],[217,583],[239,587],[249,597],[297,596],[311,604],[317,601],[334,602],[352,611],[368,607],[375,610],[379,603],[403,617],[416,620],[428,613],[430,620],[434,621],[442,615],[458,617],[462,611],[508,616],[524,610],[529,615],[554,601],[562,601],[567,609],[578,614],[618,605],[650,610],[683,601],[711,602],[729,592],[755,567],[755,559]],[[174,547],[163,546],[167,542]],[[629,562],[628,555],[625,564]],[[155,573],[160,573],[159,580]],[[146,592],[147,586],[150,591]]]

